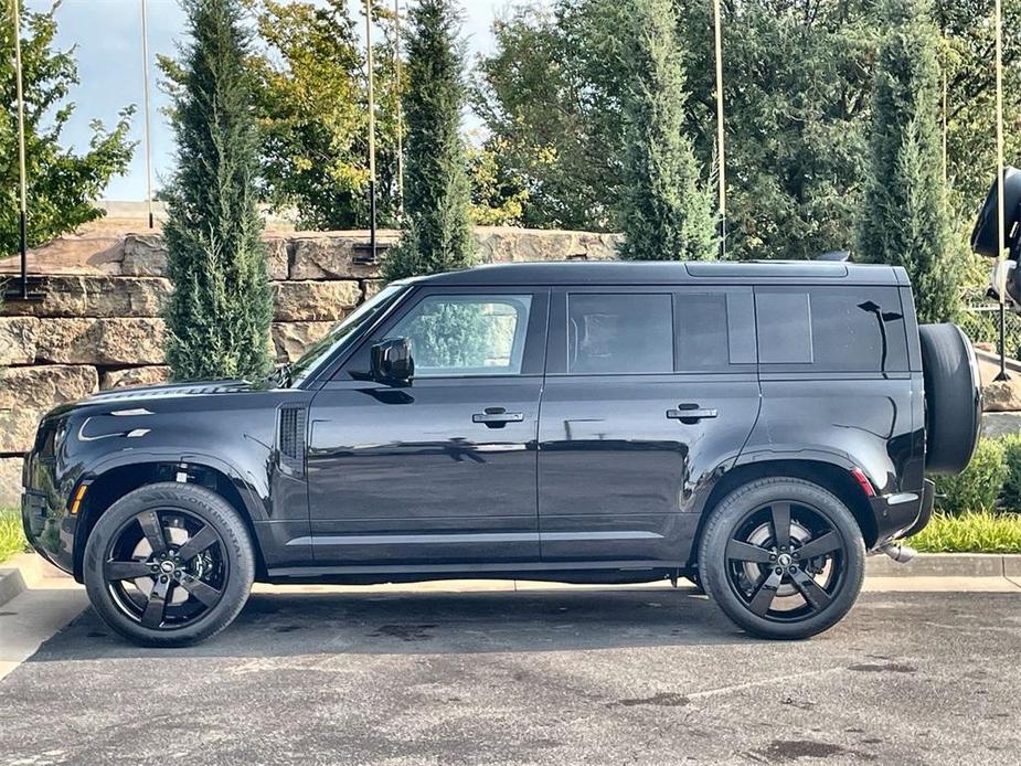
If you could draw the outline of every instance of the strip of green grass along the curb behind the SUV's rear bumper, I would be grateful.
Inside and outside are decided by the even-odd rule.
[[[908,544],[925,553],[1021,553],[1021,514],[937,513]]]

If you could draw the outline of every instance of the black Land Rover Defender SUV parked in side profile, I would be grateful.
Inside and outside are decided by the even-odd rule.
[[[55,408],[24,525],[140,643],[222,630],[253,581],[448,577],[684,576],[801,638],[926,524],[979,414],[898,268],[488,266],[390,285],[262,384]]]

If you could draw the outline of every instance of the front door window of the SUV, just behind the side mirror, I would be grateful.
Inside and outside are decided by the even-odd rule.
[[[389,332],[404,338],[416,377],[520,375],[530,295],[427,296]]]

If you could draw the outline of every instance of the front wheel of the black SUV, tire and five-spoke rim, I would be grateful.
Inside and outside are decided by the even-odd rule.
[[[183,540],[174,540],[178,529]],[[139,546],[149,553],[137,553]],[[173,570],[163,574],[168,561]],[[179,647],[216,635],[237,617],[255,578],[255,554],[226,500],[204,487],[162,482],[126,494],[99,518],[83,574],[93,607],[110,628],[141,646]],[[148,595],[138,583],[151,585]]]

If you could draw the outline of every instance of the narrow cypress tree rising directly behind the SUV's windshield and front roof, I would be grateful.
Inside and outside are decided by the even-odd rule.
[[[461,137],[465,106],[460,17],[451,0],[419,0],[408,13],[405,226],[390,279],[462,268],[475,258]]]

